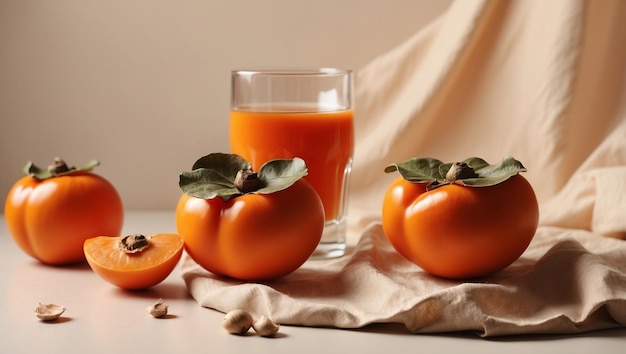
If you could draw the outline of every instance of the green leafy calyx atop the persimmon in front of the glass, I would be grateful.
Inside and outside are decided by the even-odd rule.
[[[212,153],[198,159],[191,171],[183,171],[178,185],[192,197],[220,197],[227,201],[244,194],[270,194],[287,189],[307,174],[306,164],[299,157],[268,161],[257,173],[239,155]]]

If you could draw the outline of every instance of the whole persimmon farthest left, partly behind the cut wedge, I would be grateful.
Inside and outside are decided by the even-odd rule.
[[[115,187],[91,172],[99,164],[68,167],[55,159],[48,169],[32,163],[9,191],[4,205],[7,228],[28,255],[51,265],[85,261],[83,242],[119,235],[124,219]]]

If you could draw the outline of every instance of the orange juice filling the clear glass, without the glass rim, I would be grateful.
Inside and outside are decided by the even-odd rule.
[[[272,159],[302,158],[309,170],[305,179],[320,195],[326,220],[343,214],[344,171],[350,167],[354,150],[352,110],[231,110],[230,145],[256,171]]]

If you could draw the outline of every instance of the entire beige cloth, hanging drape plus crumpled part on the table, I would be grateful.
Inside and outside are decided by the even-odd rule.
[[[483,336],[626,326],[626,2],[459,0],[357,73],[348,256],[275,282],[186,257],[200,305],[283,324]],[[540,201],[522,257],[479,282],[430,276],[393,250],[380,208],[413,156],[521,160]],[[609,237],[611,236],[611,237]]]

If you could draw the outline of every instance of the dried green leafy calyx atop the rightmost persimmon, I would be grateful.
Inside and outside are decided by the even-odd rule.
[[[395,171],[409,182],[428,183],[427,189],[431,190],[451,183],[470,187],[493,186],[520,172],[526,172],[526,168],[510,156],[505,156],[499,164],[494,165],[479,157],[453,163],[443,163],[428,157],[412,158],[385,168],[387,173]]]

